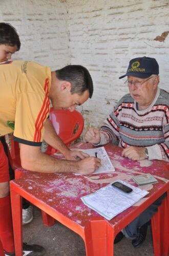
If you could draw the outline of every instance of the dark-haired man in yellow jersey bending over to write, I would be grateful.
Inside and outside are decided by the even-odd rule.
[[[55,109],[73,111],[92,97],[93,82],[85,67],[69,65],[51,72],[50,67],[32,61],[7,61],[0,64],[0,77],[0,136],[14,130],[24,168],[44,173],[90,174],[100,166],[99,159],[69,150],[47,119],[50,100]],[[43,138],[67,160],[57,160],[42,153]],[[81,160],[75,161],[77,157]],[[14,256],[8,160],[1,143],[0,219],[0,240],[5,255]],[[38,245],[24,244],[23,250],[23,254],[31,256],[45,253]]]

